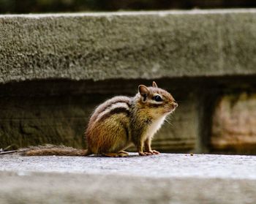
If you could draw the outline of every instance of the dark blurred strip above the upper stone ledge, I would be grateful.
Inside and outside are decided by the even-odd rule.
[[[190,10],[256,7],[253,0],[0,0],[0,12],[84,12],[118,10]]]

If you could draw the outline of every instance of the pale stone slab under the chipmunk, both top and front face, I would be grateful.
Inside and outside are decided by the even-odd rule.
[[[0,156],[0,203],[255,203],[256,157]]]

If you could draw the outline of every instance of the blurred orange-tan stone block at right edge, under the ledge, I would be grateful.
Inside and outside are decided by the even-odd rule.
[[[256,94],[229,94],[219,99],[213,116],[211,146],[218,150],[255,152]]]

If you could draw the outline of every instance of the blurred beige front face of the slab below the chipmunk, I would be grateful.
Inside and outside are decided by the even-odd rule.
[[[7,172],[0,172],[0,179],[0,203],[4,204],[256,202],[256,182],[246,179]]]

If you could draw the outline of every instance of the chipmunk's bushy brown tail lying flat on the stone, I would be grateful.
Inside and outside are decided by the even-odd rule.
[[[92,152],[89,149],[82,150],[67,146],[31,146],[18,150],[23,156],[89,156]]]

